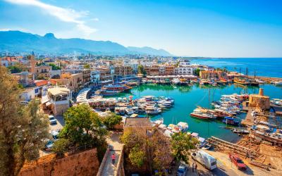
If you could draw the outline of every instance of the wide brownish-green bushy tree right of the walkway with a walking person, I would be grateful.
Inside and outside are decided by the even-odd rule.
[[[142,129],[126,130],[121,141],[125,144],[125,161],[138,168],[145,165],[148,173],[166,169],[173,160],[169,140],[156,129],[149,135]]]

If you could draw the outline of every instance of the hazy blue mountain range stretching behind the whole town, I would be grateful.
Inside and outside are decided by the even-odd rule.
[[[0,51],[32,52],[40,54],[141,54],[153,56],[172,56],[164,49],[151,47],[125,47],[111,41],[95,41],[90,39],[58,39],[52,33],[44,36],[20,31],[0,32]]]

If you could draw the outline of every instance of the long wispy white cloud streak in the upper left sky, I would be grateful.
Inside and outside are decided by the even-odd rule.
[[[93,27],[86,25],[85,20],[82,20],[82,18],[85,18],[87,17],[87,15],[89,15],[89,11],[75,11],[71,8],[61,8],[59,6],[52,6],[49,4],[45,4],[38,0],[5,0],[5,1],[11,4],[36,6],[38,8],[42,8],[44,12],[47,12],[49,15],[52,15],[63,22],[74,23],[76,28],[80,30],[80,32],[83,32],[86,36],[97,31]]]

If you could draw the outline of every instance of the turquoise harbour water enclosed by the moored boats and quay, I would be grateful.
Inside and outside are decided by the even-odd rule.
[[[264,88],[264,94],[271,98],[282,99],[282,87],[276,87],[272,84],[264,84],[259,87]],[[230,84],[219,87],[200,87],[197,84],[192,86],[177,86],[173,88],[171,85],[159,84],[142,84],[131,89],[130,93],[119,94],[119,97],[133,96],[133,99],[138,99],[141,96],[170,96],[175,99],[175,105],[164,111],[160,115],[152,117],[152,120],[164,118],[164,124],[177,124],[178,122],[188,122],[189,130],[197,132],[201,137],[219,137],[230,142],[238,139],[237,134],[233,134],[231,130],[227,130],[226,124],[221,120],[200,120],[191,118],[190,113],[202,106],[205,108],[211,107],[209,102],[218,101],[222,94],[257,94],[259,87],[242,87],[236,84]],[[245,118],[245,113],[240,115],[240,118]],[[228,126],[232,127],[232,126]]]

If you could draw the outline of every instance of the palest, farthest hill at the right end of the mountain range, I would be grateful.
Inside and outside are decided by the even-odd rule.
[[[139,54],[149,54],[149,55],[156,55],[156,56],[173,56],[172,54],[168,53],[168,51],[164,49],[153,49],[151,47],[134,47],[134,46],[128,46],[128,49],[130,51],[135,51]]]

